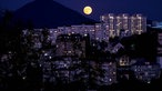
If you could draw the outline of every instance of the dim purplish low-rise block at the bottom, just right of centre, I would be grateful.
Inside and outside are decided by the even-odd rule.
[[[117,64],[115,62],[98,63],[97,75],[94,82],[98,85],[110,85],[117,83]]]

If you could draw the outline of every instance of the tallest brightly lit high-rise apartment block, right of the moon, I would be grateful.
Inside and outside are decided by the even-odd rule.
[[[129,16],[122,14],[104,14],[100,17],[104,30],[110,37],[128,37],[131,34],[141,34],[146,31],[146,18],[142,14]]]

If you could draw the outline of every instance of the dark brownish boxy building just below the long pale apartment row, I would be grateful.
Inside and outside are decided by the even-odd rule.
[[[80,34],[60,34],[57,38],[57,57],[85,57],[85,40]]]

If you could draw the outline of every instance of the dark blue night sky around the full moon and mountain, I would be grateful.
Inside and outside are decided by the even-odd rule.
[[[33,0],[0,0],[1,9],[17,10]],[[83,14],[84,6],[91,6],[93,13],[87,16],[99,20],[105,13],[143,13],[151,20],[162,21],[162,0],[54,0]]]

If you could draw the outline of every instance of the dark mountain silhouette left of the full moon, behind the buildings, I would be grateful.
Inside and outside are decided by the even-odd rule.
[[[53,0],[34,0],[27,3],[14,12],[14,18],[23,22],[30,21],[34,28],[57,28],[95,22]]]

